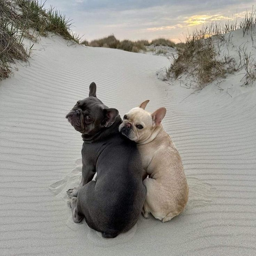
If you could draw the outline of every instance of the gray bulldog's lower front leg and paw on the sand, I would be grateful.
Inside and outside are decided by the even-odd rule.
[[[82,179],[80,182],[80,185],[78,187],[74,187],[73,189],[69,189],[67,191],[67,195],[72,198],[72,197],[77,197],[78,192],[80,190],[80,188],[87,184],[88,182],[90,182],[94,175],[96,173],[95,167],[92,165],[84,165],[82,167]]]

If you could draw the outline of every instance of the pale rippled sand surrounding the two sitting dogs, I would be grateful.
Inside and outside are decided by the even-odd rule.
[[[0,86],[0,255],[256,255],[256,88],[200,93],[157,79],[165,57],[67,46],[55,36],[34,46],[30,66]],[[115,239],[72,221],[66,190],[79,183],[81,135],[65,119],[95,81],[121,116],[145,99],[167,107],[190,186],[180,216],[140,217]],[[232,97],[231,97],[231,96]]]

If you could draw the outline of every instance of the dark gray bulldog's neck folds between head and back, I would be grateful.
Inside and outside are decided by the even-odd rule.
[[[96,141],[100,141],[101,139],[106,138],[111,134],[119,133],[118,127],[121,123],[122,119],[120,115],[118,115],[118,117],[115,119],[114,123],[110,127],[105,127],[96,134],[82,134],[83,141],[86,143],[93,143]]]

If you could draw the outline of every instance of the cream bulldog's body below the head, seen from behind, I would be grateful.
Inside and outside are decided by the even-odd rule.
[[[169,221],[180,214],[188,199],[189,189],[183,170],[181,157],[170,136],[159,125],[159,133],[147,144],[138,145],[143,168],[149,178],[143,183],[147,196],[143,206],[143,216],[151,213],[161,221]]]

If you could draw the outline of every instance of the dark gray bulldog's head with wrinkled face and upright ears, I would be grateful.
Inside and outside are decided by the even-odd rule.
[[[66,115],[67,120],[82,134],[94,135],[109,127],[118,116],[118,110],[108,108],[96,97],[96,84],[90,84],[89,97],[74,105]]]

